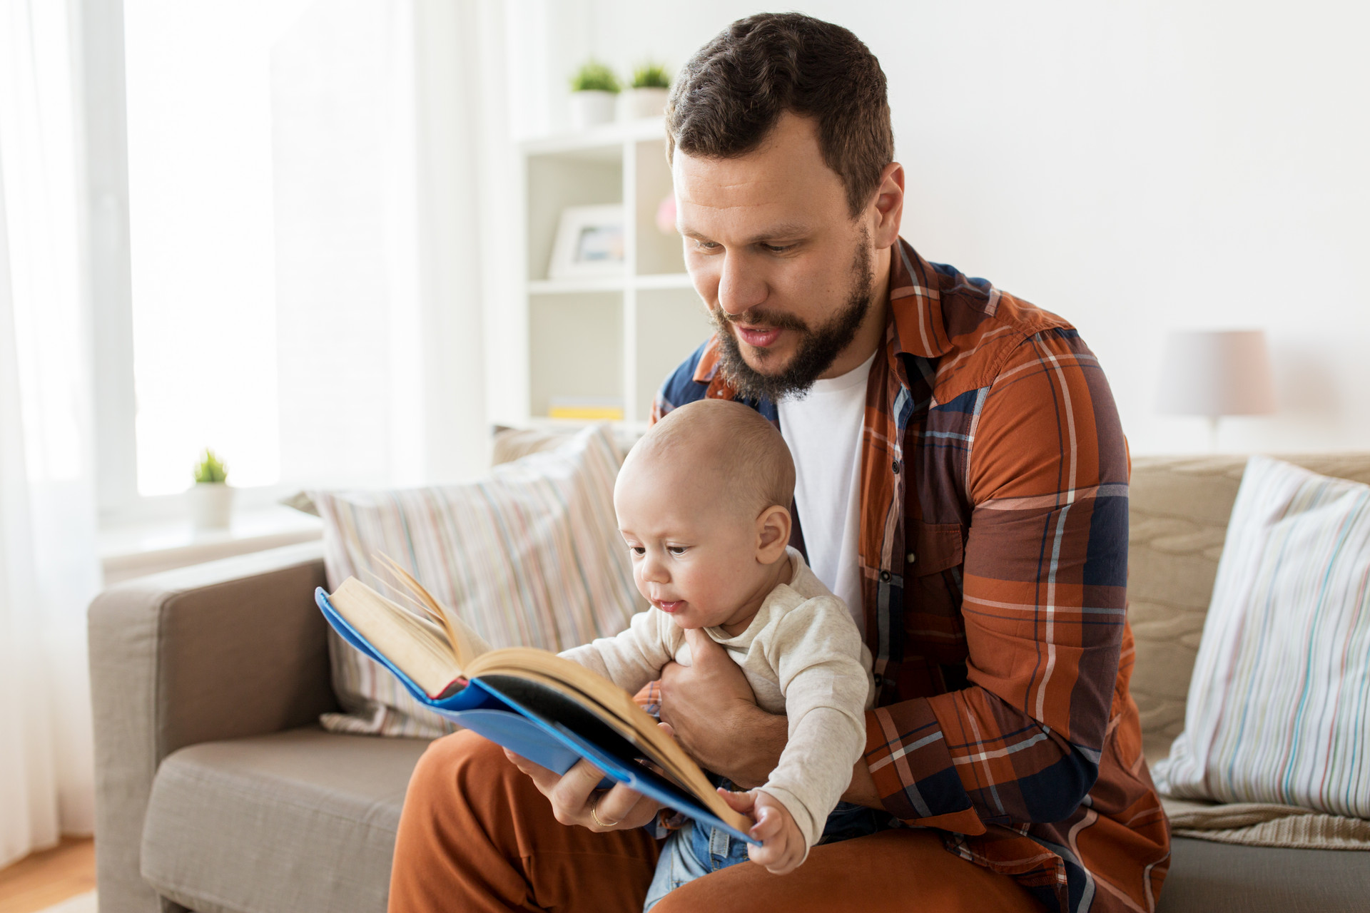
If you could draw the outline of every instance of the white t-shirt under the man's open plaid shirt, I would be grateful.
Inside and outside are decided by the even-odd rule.
[[[795,457],[795,506],[804,532],[808,567],[847,604],[864,636],[860,602],[860,431],[866,420],[866,379],[875,361],[815,381],[803,400],[777,404],[780,431]]]

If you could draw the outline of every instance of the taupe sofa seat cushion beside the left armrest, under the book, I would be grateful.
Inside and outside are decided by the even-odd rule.
[[[427,745],[304,728],[181,749],[152,783],[142,877],[199,913],[384,913]]]

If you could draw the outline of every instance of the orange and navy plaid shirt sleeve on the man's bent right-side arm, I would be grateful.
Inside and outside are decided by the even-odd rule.
[[[973,428],[969,687],[867,712],[864,754],[891,813],[962,834],[1059,821],[1093,786],[1128,571],[1126,445],[1073,330],[1023,339]]]

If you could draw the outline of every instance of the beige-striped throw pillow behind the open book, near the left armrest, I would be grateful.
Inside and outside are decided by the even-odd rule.
[[[310,491],[323,519],[329,589],[375,586],[385,553],[493,646],[564,650],[627,627],[638,606],[614,517],[623,456],[606,427],[497,465],[466,485]],[[329,631],[344,713],[326,728],[434,738],[455,727]]]

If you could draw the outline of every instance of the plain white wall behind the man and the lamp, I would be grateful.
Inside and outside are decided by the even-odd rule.
[[[764,7],[563,0],[521,133],[564,126],[590,53],[671,68]],[[1226,419],[1228,450],[1370,449],[1370,7],[1330,0],[1021,4],[812,0],[889,78],[904,237],[1073,320],[1134,453],[1200,450],[1154,415],[1171,327],[1263,327],[1280,412]],[[536,86],[534,86],[536,89]],[[538,97],[541,96],[541,97]]]

